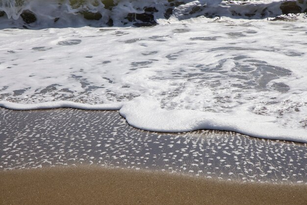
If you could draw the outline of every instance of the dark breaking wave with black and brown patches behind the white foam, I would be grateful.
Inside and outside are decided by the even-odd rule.
[[[306,12],[307,0],[0,0],[2,28],[155,26],[200,16],[284,20]]]

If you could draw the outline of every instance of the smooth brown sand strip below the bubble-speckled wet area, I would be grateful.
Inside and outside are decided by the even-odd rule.
[[[0,184],[1,204],[307,204],[307,185],[95,166],[2,171]]]

